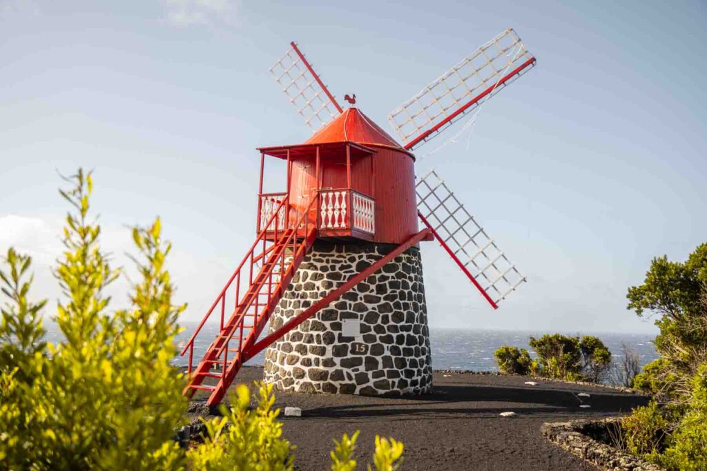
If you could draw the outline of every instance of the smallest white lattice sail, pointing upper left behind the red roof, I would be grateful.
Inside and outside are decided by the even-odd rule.
[[[316,132],[341,113],[341,107],[295,42],[269,70],[297,112]]]

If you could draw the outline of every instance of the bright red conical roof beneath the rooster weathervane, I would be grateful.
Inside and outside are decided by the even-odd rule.
[[[383,145],[404,150],[378,124],[371,121],[357,108],[346,109],[334,121],[317,131],[305,144],[354,142],[363,145]],[[407,152],[407,151],[406,151]]]

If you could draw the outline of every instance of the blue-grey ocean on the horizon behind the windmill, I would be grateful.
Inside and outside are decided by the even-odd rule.
[[[177,337],[177,345],[181,347],[189,340],[189,336],[194,332],[196,323],[184,323],[185,330]],[[62,335],[56,324],[46,323],[47,340],[57,342]],[[206,348],[216,337],[218,326],[207,323],[201,329],[197,337],[194,349],[194,363],[201,359]],[[430,344],[432,349],[433,369],[457,369],[471,371],[498,371],[498,366],[493,359],[493,352],[501,345],[513,345],[515,347],[526,348],[531,352],[528,345],[530,336],[539,337],[547,331],[527,331],[527,330],[461,330],[447,328],[430,328]],[[652,362],[658,355],[655,352],[652,340],[655,335],[638,333],[566,333],[568,335],[595,335],[600,338],[604,345],[614,354],[614,357],[621,355],[622,345],[626,345],[629,350],[638,354],[638,359],[643,366]],[[186,366],[187,355],[175,357],[174,363],[179,366]],[[249,365],[262,365],[264,362],[264,352],[260,352],[250,359]]]

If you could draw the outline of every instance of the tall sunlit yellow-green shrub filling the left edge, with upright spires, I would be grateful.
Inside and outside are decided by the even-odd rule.
[[[23,288],[6,293],[11,305],[3,316],[25,329],[4,320],[3,350],[14,344],[29,352],[26,338],[36,347],[31,355],[2,356],[0,459],[18,470],[179,469],[183,453],[172,437],[186,403],[183,378],[170,360],[183,306],[171,302],[163,266],[169,244],[160,239],[159,220],[134,229],[141,276],[132,306],[110,315],[103,291],[118,271],[100,250],[100,227],[88,220],[93,182],[81,171],[69,180],[74,186],[62,196],[74,212],[66,217],[65,249],[55,270],[64,293],[56,316],[64,341],[38,342],[41,323],[31,319],[43,303],[28,302],[30,281],[21,280],[30,259],[13,250],[6,258],[10,274],[3,280]]]

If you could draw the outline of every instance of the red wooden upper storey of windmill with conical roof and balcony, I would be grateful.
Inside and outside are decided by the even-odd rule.
[[[275,210],[281,229],[305,208],[315,213],[317,237],[401,244],[418,231],[414,155],[358,109],[346,109],[303,144],[259,151],[257,232]],[[281,193],[262,193],[266,155],[287,161]]]

